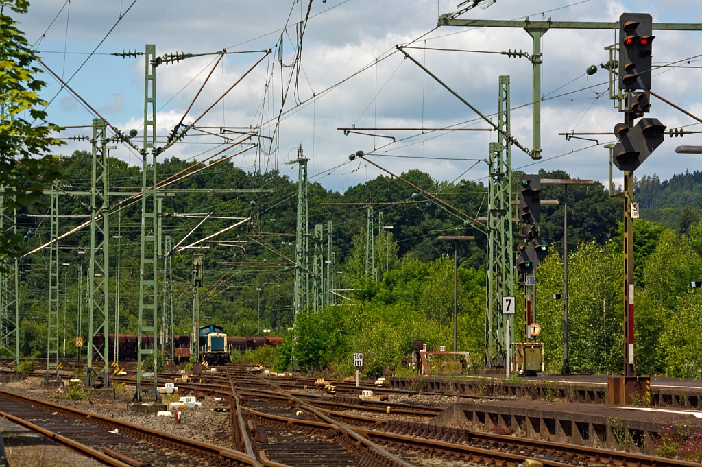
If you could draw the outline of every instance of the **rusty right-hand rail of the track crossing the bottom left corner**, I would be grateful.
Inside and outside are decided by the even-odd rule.
[[[70,416],[73,419],[82,421],[84,423],[88,423],[89,425],[98,425],[102,426],[103,428],[119,428],[122,433],[137,433],[138,435],[143,435],[146,438],[155,438],[158,440],[169,442],[172,443],[174,446],[178,447],[178,449],[180,450],[186,448],[190,449],[190,451],[192,452],[199,452],[208,456],[218,456],[223,459],[241,462],[244,463],[246,466],[261,467],[258,460],[256,460],[256,457],[251,456],[251,454],[235,451],[234,449],[229,449],[227,447],[210,445],[206,442],[191,440],[189,438],[183,438],[178,435],[171,435],[170,433],[152,430],[151,428],[145,428],[143,426],[134,425],[133,423],[127,423],[126,421],[110,419],[107,416],[93,414],[91,412],[84,412],[82,410],[77,409],[71,409],[62,405],[53,404],[52,402],[46,402],[43,400],[33,399],[32,397],[10,393],[6,390],[0,390],[0,396],[6,397],[7,399],[11,400],[16,400],[24,404],[34,405],[35,407],[39,407],[41,409],[47,409],[53,412],[58,412],[63,416]]]

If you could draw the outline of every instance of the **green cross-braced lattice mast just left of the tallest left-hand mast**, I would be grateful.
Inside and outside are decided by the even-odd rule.
[[[88,265],[88,371],[85,386],[100,381],[110,386],[110,183],[107,170],[107,124],[93,119],[93,168],[91,176],[90,264]],[[95,336],[102,335],[102,345]],[[102,371],[93,378],[93,356],[102,361]]]

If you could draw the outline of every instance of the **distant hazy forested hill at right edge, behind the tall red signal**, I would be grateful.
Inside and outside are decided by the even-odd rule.
[[[685,171],[662,181],[655,173],[643,176],[635,181],[635,197],[642,218],[686,232],[700,218],[702,172]]]

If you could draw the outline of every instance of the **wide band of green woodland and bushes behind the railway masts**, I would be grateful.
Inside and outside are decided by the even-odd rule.
[[[164,190],[161,218],[164,248],[170,249],[181,240],[183,246],[202,242],[197,249],[168,256],[168,263],[165,256],[159,258],[159,303],[173,303],[176,334],[192,330],[192,254],[197,252],[204,255],[204,279],[200,289],[203,322],[221,324],[227,334],[232,335],[253,336],[263,329],[272,329],[272,334],[277,336],[287,335],[293,322],[295,266],[292,258],[296,254],[297,183],[277,172],[246,172],[229,161],[216,163],[216,166],[183,178]],[[65,159],[65,164],[64,177],[60,181],[62,190],[86,191],[91,179],[91,155],[74,152]],[[124,197],[114,195],[110,198],[113,206],[109,217],[110,320],[113,321],[110,329],[117,329],[114,296],[119,294],[119,331],[133,333],[138,329],[140,300],[141,206],[140,202],[128,199],[129,193],[140,190],[141,174],[139,167],[128,166],[118,159],[110,159],[109,164],[111,191],[124,192]],[[183,173],[190,164],[176,158],[163,159],[158,166],[159,178]],[[192,169],[198,167],[201,165],[195,164]],[[569,178],[569,174],[563,171],[540,171],[539,175],[542,178]],[[479,218],[487,215],[486,186],[470,180],[447,183],[418,170],[406,171],[402,177],[420,190],[383,176],[348,188],[343,194],[326,190],[319,183],[309,185],[310,251],[324,248],[324,280],[328,283],[331,277],[336,277],[334,287],[343,295],[339,296],[339,303],[326,307],[323,313],[303,314],[303,321],[296,323],[298,340],[288,342],[297,342],[300,349],[296,350],[296,359],[300,359],[298,363],[304,368],[343,367],[352,371],[347,357],[352,355],[352,346],[363,341],[368,355],[373,355],[375,363],[372,368],[377,376],[379,371],[392,366],[392,362],[402,361],[413,340],[428,341],[432,347],[446,345],[451,340],[453,245],[439,241],[439,235],[475,236],[475,242],[458,242],[458,261],[461,263],[458,270],[458,323],[461,329],[458,343],[475,355],[482,354],[486,296],[485,228],[466,225],[463,216],[444,209],[445,206],[424,195],[422,190],[468,216]],[[693,219],[697,215],[696,199],[701,191],[698,178],[702,176],[694,173],[664,183],[657,178],[640,180],[640,201],[643,202],[647,190],[656,202],[664,198],[650,195],[653,188],[666,196],[670,193],[671,199],[670,206],[647,207],[643,212],[679,209]],[[513,175],[512,182],[512,192],[516,193],[519,173]],[[687,192],[687,202],[681,201],[680,196],[676,199],[676,192]],[[557,206],[544,206],[541,210],[541,237],[553,246],[552,254],[538,270],[543,277],[540,279],[541,291],[544,297],[548,297],[562,291],[559,253],[563,246],[564,189],[557,185],[543,185],[541,198],[559,202]],[[44,201],[46,206],[50,204],[48,197]],[[89,213],[88,203],[86,197],[60,195],[59,232],[67,232],[84,223]],[[116,209],[117,203],[122,203],[123,209]],[[371,261],[373,257],[375,261],[371,268],[366,265],[369,262],[366,260],[369,204],[373,204],[374,211],[371,224],[374,256],[371,256]],[[18,212],[19,232],[27,250],[37,249],[48,241],[51,234],[48,213],[47,208]],[[392,230],[381,228],[380,213],[383,213],[382,225],[392,226]],[[197,227],[206,216],[211,218]],[[618,333],[621,291],[617,285],[621,283],[622,268],[618,263],[621,260],[621,239],[617,239],[621,217],[621,198],[610,197],[601,183],[569,188],[568,237],[572,255],[569,264],[573,271],[569,294],[573,309],[578,310],[574,313],[572,327],[574,358],[571,367],[578,371],[617,371],[616,364],[621,362],[621,355],[616,353],[597,354],[600,352],[597,349],[603,348],[598,340],[600,337],[592,338],[592,322],[601,317],[602,326],[598,328],[600,334],[597,336],[602,337],[605,349],[612,345],[612,335],[621,335]],[[680,220],[680,217],[678,215],[675,219]],[[251,221],[209,237],[244,218],[251,218]],[[313,233],[319,232],[317,225],[322,227],[324,235],[329,228],[333,231],[333,269],[327,266],[329,237],[324,237],[320,244],[317,233]],[[702,247],[698,242],[701,238],[698,232],[701,231],[702,225],[696,224],[691,227],[689,235],[680,236],[644,220],[635,223],[636,281],[651,298],[649,301],[641,299],[642,305],[637,313],[642,316],[644,324],[647,317],[651,318],[649,324],[642,326],[649,326],[645,335],[655,337],[647,341],[648,350],[637,355],[654,355],[645,363],[650,371],[667,368],[662,363],[665,355],[658,355],[655,350],[659,344],[656,339],[663,335],[658,326],[668,329],[669,324],[675,324],[667,321],[667,315],[658,313],[663,310],[661,307],[665,307],[668,310],[665,313],[671,316],[677,316],[680,303],[683,311],[688,305],[691,311],[702,309],[688,301],[687,293],[689,282],[702,277]],[[614,241],[609,241],[611,239]],[[515,235],[515,246],[518,241]],[[64,316],[61,329],[69,337],[82,335],[87,338],[88,263],[86,255],[79,253],[89,244],[90,232],[82,229],[61,239],[58,246],[60,303]],[[172,271],[167,273],[168,268]],[[19,263],[20,350],[23,355],[46,355],[49,269],[47,249],[30,254]],[[366,270],[371,272],[366,274]],[[661,270],[672,272],[661,279]],[[166,292],[172,296],[172,301],[166,299]],[[660,307],[658,301],[661,301]],[[345,306],[338,306],[342,303]],[[606,308],[604,315],[602,307]],[[543,338],[548,349],[562,348],[558,341],[562,336],[559,332],[562,308],[555,301],[545,300],[541,304],[541,313],[545,325]],[[576,322],[578,320],[580,324]],[[689,320],[698,322],[695,316],[690,316]],[[686,323],[680,326],[689,327]],[[346,327],[330,330],[337,324]],[[519,326],[515,324],[515,329],[523,329]],[[676,331],[670,336],[677,334],[680,333]],[[591,342],[596,345],[590,346]],[[676,348],[684,345],[687,344],[681,343]],[[71,338],[67,339],[66,348],[67,355],[77,355]],[[684,352],[685,355],[693,354],[688,350]],[[560,368],[557,352],[549,350],[546,355],[550,365]],[[698,355],[696,350],[694,355]],[[370,360],[368,365],[370,369]],[[366,371],[371,371],[369,369]],[[702,370],[702,362],[699,370]],[[695,370],[696,374],[699,370]]]

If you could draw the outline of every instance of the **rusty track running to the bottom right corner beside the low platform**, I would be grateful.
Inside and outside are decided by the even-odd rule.
[[[232,380],[234,376],[232,376]],[[232,381],[232,387],[237,383]],[[270,423],[277,426],[305,426],[312,423],[310,429],[329,430],[333,433],[333,420],[337,424],[352,427],[352,430],[364,438],[385,447],[389,452],[401,456],[406,461],[417,461],[425,458],[429,453],[432,456],[447,461],[467,461],[484,463],[486,465],[503,465],[514,467],[526,459],[536,459],[545,466],[641,466],[641,467],[673,467],[697,466],[696,463],[665,459],[656,456],[647,456],[629,452],[597,449],[579,445],[569,445],[558,442],[517,438],[514,436],[496,435],[464,428],[449,426],[435,426],[431,423],[382,419],[371,416],[361,416],[338,412],[324,408],[313,408],[311,404],[319,404],[319,400],[303,400],[303,397],[289,396],[281,393],[280,388],[273,390],[249,390],[246,394],[257,395],[267,393],[268,399],[273,404],[283,404],[282,412],[260,412],[246,409],[249,416],[253,416],[258,423]],[[249,397],[248,395],[246,397]],[[311,403],[311,404],[310,404]],[[363,405],[350,404],[353,409],[364,410]],[[300,409],[303,414],[291,417],[293,407]],[[307,409],[307,412],[305,410]],[[338,406],[337,406],[338,407]],[[344,407],[348,409],[348,407]],[[322,414],[323,417],[318,415]],[[300,420],[301,418],[305,420]],[[407,453],[413,452],[416,457],[408,457]]]

